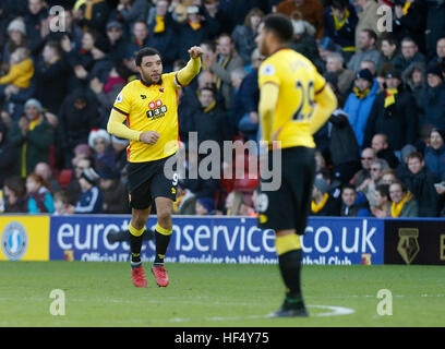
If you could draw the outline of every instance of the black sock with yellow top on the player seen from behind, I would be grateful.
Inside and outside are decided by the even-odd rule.
[[[286,304],[290,308],[304,306],[300,287],[302,250],[300,237],[289,234],[277,237],[275,245],[278,254],[279,270],[287,287]]]

